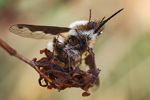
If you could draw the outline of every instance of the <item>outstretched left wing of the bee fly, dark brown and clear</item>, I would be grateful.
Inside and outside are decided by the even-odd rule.
[[[35,39],[52,39],[59,33],[68,32],[70,28],[55,26],[38,26],[27,24],[16,24],[10,27],[10,32],[17,35]]]

